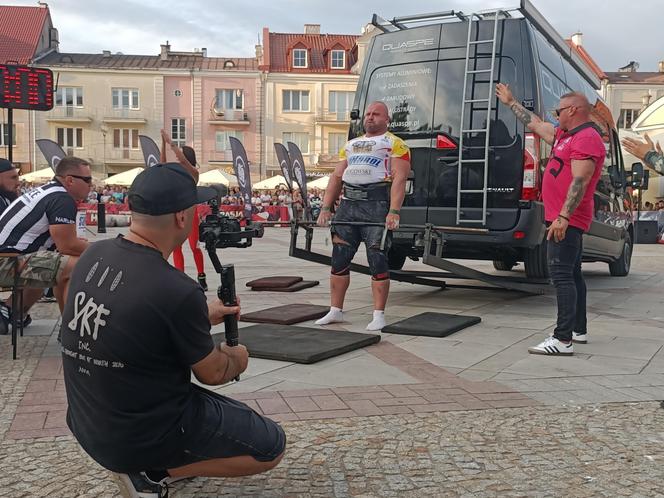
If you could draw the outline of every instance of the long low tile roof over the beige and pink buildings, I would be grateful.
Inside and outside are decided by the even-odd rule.
[[[230,67],[228,62],[232,62]],[[257,71],[258,61],[254,57],[202,57],[195,55],[169,55],[161,60],[159,55],[124,54],[74,54],[50,53],[39,59],[46,67],[86,67],[98,69],[200,69],[226,71]]]

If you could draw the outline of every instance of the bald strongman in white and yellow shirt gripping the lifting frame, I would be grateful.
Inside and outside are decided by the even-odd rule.
[[[332,206],[342,194],[335,223],[385,223],[388,230],[399,228],[399,211],[410,172],[410,151],[398,137],[387,131],[389,111],[383,102],[369,104],[364,114],[365,135],[346,143],[325,191],[318,225],[328,225]],[[371,270],[373,320],[367,330],[385,326],[385,304],[390,290],[387,251],[390,237],[381,248],[383,227],[335,224],[332,226],[332,271],[330,311],[317,325],[343,321],[343,304],[350,284],[350,263],[360,242],[364,242]]]

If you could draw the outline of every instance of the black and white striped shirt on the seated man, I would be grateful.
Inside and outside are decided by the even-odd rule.
[[[49,227],[76,223],[76,202],[52,180],[26,192],[0,215],[0,252],[33,253],[54,249]]]

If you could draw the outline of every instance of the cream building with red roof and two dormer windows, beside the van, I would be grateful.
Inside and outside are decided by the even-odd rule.
[[[280,172],[275,142],[296,143],[307,172],[329,173],[346,143],[358,82],[357,36],[321,34],[307,24],[303,33],[263,28],[257,47],[263,81],[262,174]]]

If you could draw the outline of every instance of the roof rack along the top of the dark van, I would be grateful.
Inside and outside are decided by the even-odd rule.
[[[511,17],[510,12],[519,12],[524,18],[537,29],[539,33],[546,38],[556,49],[562,54],[567,62],[569,62],[574,69],[590,83],[596,90],[600,88],[601,83],[598,76],[586,65],[585,62],[577,55],[577,53],[565,42],[560,33],[551,26],[549,21],[538,11],[530,0],[521,0],[518,7],[504,8],[504,9],[491,9],[476,12],[475,16],[485,17],[487,19],[493,18],[496,15],[503,15]],[[450,21],[453,19],[468,21],[470,16],[461,11],[446,10],[442,12],[431,12],[428,14],[417,14],[411,16],[394,17],[391,20],[385,20],[377,14],[374,14],[371,19],[371,24],[380,29],[383,33],[392,33],[409,29],[408,24],[419,24],[423,22],[432,21]]]

